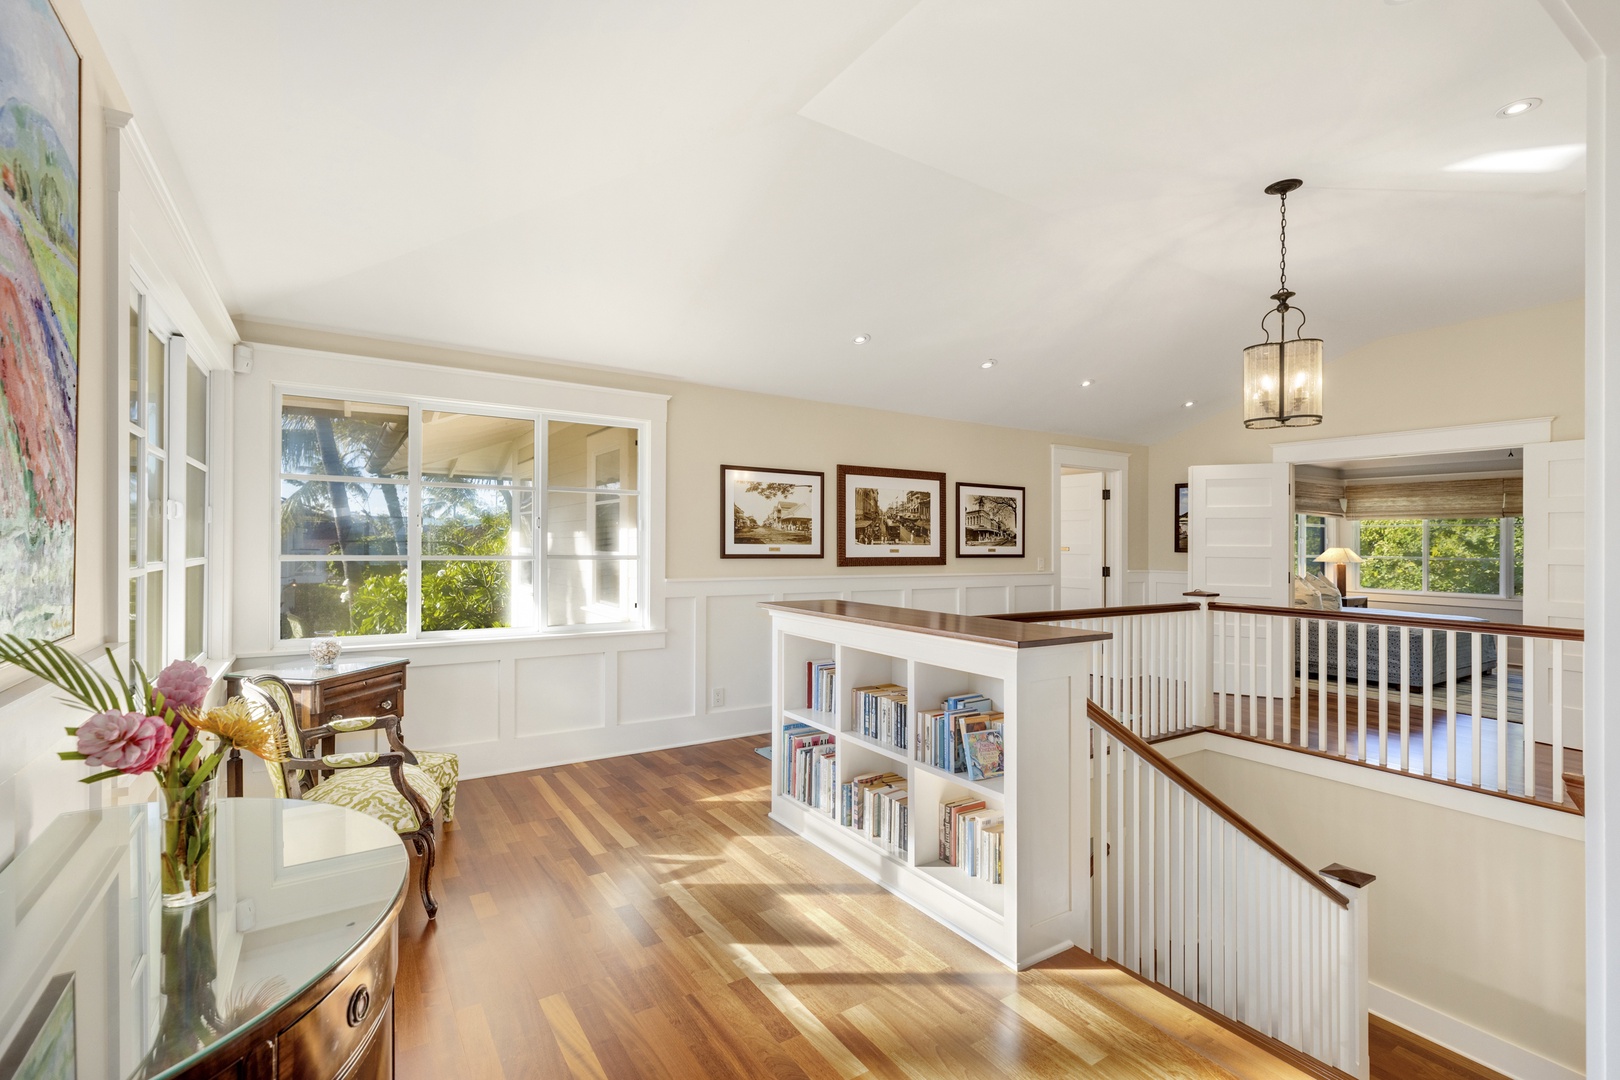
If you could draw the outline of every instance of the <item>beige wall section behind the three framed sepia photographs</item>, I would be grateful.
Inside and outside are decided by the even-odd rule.
[[[316,348],[356,356],[384,356],[420,363],[533,376],[564,382],[609,385],[669,395],[669,510],[666,565],[671,580],[766,578],[797,575],[880,576],[894,573],[1035,573],[1035,560],[1051,563],[1051,445],[1084,445],[1131,455],[1129,567],[1147,559],[1147,447],[1076,439],[1038,431],[991,427],[909,413],[849,405],[825,405],[768,393],[724,390],[692,382],[653,379],[515,356],[496,356],[452,348],[384,342],[324,330],[238,321],[248,342]],[[719,466],[812,470],[826,473],[826,559],[721,559]],[[954,559],[941,567],[844,567],[839,568],[833,523],[839,465],[878,465],[943,471],[951,512],[957,481],[1017,484],[1025,487],[1029,541],[1024,559]],[[948,518],[949,520],[949,518]],[[948,551],[954,541],[948,542]]]

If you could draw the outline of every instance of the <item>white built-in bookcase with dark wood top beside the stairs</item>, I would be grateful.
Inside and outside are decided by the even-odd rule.
[[[771,818],[904,897],[1003,963],[1024,968],[1089,944],[1085,687],[1105,633],[846,601],[763,604],[771,610]],[[831,711],[805,701],[805,664],[833,659]],[[917,714],[959,693],[1004,712],[1004,776],[974,782],[859,733],[855,687],[907,688]],[[910,850],[896,852],[782,790],[782,727],[836,738],[838,782],[863,772],[907,779]],[[1003,813],[1001,884],[938,860],[940,805],[974,795]]]

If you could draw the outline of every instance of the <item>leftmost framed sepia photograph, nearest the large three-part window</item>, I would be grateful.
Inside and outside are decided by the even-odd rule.
[[[826,474],[719,466],[721,559],[821,559]]]

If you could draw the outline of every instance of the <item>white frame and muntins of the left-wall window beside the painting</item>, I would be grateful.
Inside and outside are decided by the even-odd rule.
[[[136,364],[133,371],[128,372],[128,379],[120,381],[120,440],[118,458],[125,461],[125,470],[128,470],[128,444],[131,437],[141,439],[141,460],[136,463],[136,505],[146,508],[151,502],[151,494],[147,492],[147,474],[146,474],[146,457],[147,453],[157,453],[162,460],[164,474],[164,508],[162,508],[162,541],[160,552],[146,551],[146,515],[141,513],[134,521],[130,521],[130,507],[125,502],[128,495],[128,487],[118,486],[118,515],[125,523],[125,528],[134,531],[133,536],[125,536],[125,544],[118,551],[118,562],[122,567],[120,573],[120,597],[123,599],[126,625],[133,627],[130,635],[130,654],[136,659],[143,659],[147,665],[167,664],[172,659],[188,659],[201,661],[209,654],[209,644],[212,641],[212,622],[215,617],[212,604],[212,554],[215,551],[215,536],[212,528],[212,497],[214,497],[214,474],[215,463],[214,457],[217,453],[217,439],[214,432],[215,426],[215,387],[214,387],[214,371],[207,364],[201,363],[201,358],[190,355],[186,348],[186,338],[180,332],[178,325],[167,316],[162,306],[154,300],[154,290],[146,283],[139,272],[130,272],[130,303],[128,311],[136,313],[136,325],[131,330],[133,342],[126,342],[123,351],[123,363]],[[126,316],[120,316],[126,317]],[[164,439],[162,445],[152,449],[147,442],[151,432],[144,423],[136,423],[130,418],[130,382],[136,382],[138,397],[141,403],[146,402],[146,347],[147,337],[156,335],[164,342]],[[136,363],[134,356],[139,356]],[[207,432],[207,460],[199,461],[186,453],[188,449],[188,426],[190,426],[190,374],[191,368],[198,368],[202,377],[207,381],[204,384],[204,408],[209,418]],[[204,473],[204,491],[202,491],[202,554],[196,557],[186,555],[186,520],[191,510],[190,507],[190,489],[188,489],[188,470],[198,468]],[[125,481],[128,481],[128,474]],[[122,533],[122,529],[120,529]],[[130,546],[136,547],[141,559],[139,565],[131,565]],[[186,649],[186,570],[191,567],[204,567],[202,572],[202,625],[199,628],[199,648]],[[160,617],[160,641],[152,643],[144,640],[146,633],[146,601],[147,591],[144,588],[136,589],[131,597],[130,588],[136,578],[146,578],[152,572],[160,570],[164,573],[164,591],[162,602],[164,612]],[[133,604],[133,609],[131,609]],[[156,674],[149,672],[149,674]]]

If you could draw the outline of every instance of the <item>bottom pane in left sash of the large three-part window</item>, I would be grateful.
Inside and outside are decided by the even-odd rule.
[[[407,570],[394,562],[284,562],[282,638],[405,633]]]

